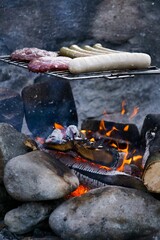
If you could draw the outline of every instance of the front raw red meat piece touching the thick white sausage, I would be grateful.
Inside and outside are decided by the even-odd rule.
[[[67,70],[71,60],[69,57],[40,57],[30,61],[28,69],[32,72]]]

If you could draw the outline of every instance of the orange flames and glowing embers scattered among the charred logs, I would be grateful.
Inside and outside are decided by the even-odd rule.
[[[122,106],[125,106],[125,101],[123,101]],[[125,110],[125,109],[124,109]],[[138,108],[134,108],[134,114],[132,114],[132,118],[133,116],[137,113]],[[124,111],[123,111],[124,112]],[[110,126],[110,125],[109,125]],[[64,127],[61,126],[58,123],[54,124],[55,130],[60,130],[60,131],[64,131]],[[94,133],[91,130],[81,130],[80,133],[83,135],[80,135],[80,138],[77,141],[87,141],[87,144],[90,142],[91,146],[94,149],[94,153],[96,148],[94,148],[94,146],[101,146],[103,148],[103,144],[105,144],[106,141],[106,145],[107,147],[109,146],[110,148],[112,148],[113,151],[115,152],[119,152],[119,161],[118,161],[118,166],[114,167],[114,170],[116,171],[120,171],[120,172],[125,172],[125,167],[126,165],[130,165],[132,164],[133,167],[137,166],[140,171],[142,170],[141,167],[141,160],[142,160],[142,156],[139,155],[139,152],[136,153],[136,149],[132,149],[131,150],[131,143],[128,142],[127,140],[119,141],[119,139],[116,139],[116,134],[114,134],[114,137],[112,135],[113,132],[115,131],[119,131],[118,136],[120,136],[123,132],[127,132],[129,131],[129,127],[130,125],[124,125],[124,127],[121,129],[117,129],[116,126],[112,126],[112,128],[110,127],[110,130],[107,130],[106,126],[105,126],[105,121],[101,120],[100,124],[99,124],[99,130],[98,132]],[[97,135],[96,135],[97,134]],[[123,134],[122,134],[123,135]],[[104,139],[103,139],[104,138]],[[102,141],[101,141],[102,139]],[[36,139],[38,142],[40,142],[41,144],[44,143],[44,139],[37,137]],[[70,138],[68,138],[66,141],[71,140]],[[123,140],[123,139],[122,139]],[[95,145],[94,145],[95,143]],[[96,143],[100,143],[99,145],[96,145]],[[101,145],[101,143],[103,143]],[[89,146],[89,145],[88,145]],[[78,152],[79,153],[79,152]],[[81,153],[80,153],[81,154]],[[85,156],[90,156],[90,155],[85,155]],[[85,157],[82,155],[82,157],[79,155],[75,156],[74,159],[83,164],[86,164],[88,167],[94,168],[99,168],[99,169],[104,169],[106,171],[112,171],[113,167],[108,167],[105,164],[103,164],[101,161],[101,159],[99,159],[99,162],[93,162],[92,159],[90,159],[89,157]],[[90,161],[91,160],[91,161]],[[131,166],[131,165],[130,165]],[[71,193],[70,197],[74,197],[74,196],[80,196],[84,193],[86,193],[89,189],[83,185],[80,185],[79,188],[77,188],[73,193]]]

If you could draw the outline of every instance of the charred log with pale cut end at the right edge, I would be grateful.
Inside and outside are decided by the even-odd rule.
[[[160,114],[149,114],[142,127],[144,185],[150,192],[160,193]]]

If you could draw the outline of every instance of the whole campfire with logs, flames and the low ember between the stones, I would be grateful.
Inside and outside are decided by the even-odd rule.
[[[104,120],[99,122],[99,126],[98,122],[95,121],[90,125],[92,124],[94,125],[92,130],[82,129],[78,131],[74,125],[65,129],[60,124],[55,123],[54,130],[48,138],[46,140],[37,138],[37,141],[42,144],[45,150],[48,149],[51,155],[57,157],[63,164],[71,167],[77,173],[80,183],[83,185],[80,185],[73,192],[73,196],[76,194],[79,196],[89,189],[95,188],[96,182],[97,186],[105,186],[106,184],[125,186],[124,176],[130,182],[130,186],[128,184],[126,186],[135,187],[135,182],[143,173],[143,150],[138,146],[140,143],[138,130],[133,125],[106,123]],[[85,126],[86,123],[83,125]],[[107,130],[106,125],[109,126],[109,130]],[[137,136],[134,138],[134,142],[131,142],[132,139],[129,136],[133,132]],[[119,172],[123,172],[123,175]],[[111,175],[113,180],[109,179]],[[117,180],[114,179],[114,176]],[[94,184],[89,178],[94,179]],[[139,188],[141,187],[140,182]]]

